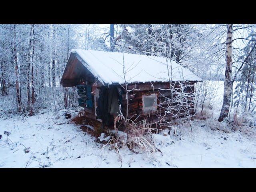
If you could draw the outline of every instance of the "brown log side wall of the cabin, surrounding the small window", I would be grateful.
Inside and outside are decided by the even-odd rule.
[[[128,90],[132,91],[128,93],[128,118],[134,120],[140,115],[137,120],[147,118],[149,121],[155,122],[168,109],[168,104],[171,103],[170,99],[173,98],[173,101],[175,101],[178,99],[177,96],[180,97],[180,95],[183,95],[183,97],[179,98],[179,102],[172,103],[172,116],[182,116],[182,114],[184,116],[184,114],[188,113],[188,110],[192,113],[194,107],[194,84],[195,82],[182,82],[181,86],[180,82],[173,82],[174,92],[171,92],[169,82],[129,84]],[[185,94],[180,94],[182,91]],[[126,90],[123,89],[123,92],[122,113],[126,115]],[[143,112],[142,96],[154,93],[158,94],[157,111]]]

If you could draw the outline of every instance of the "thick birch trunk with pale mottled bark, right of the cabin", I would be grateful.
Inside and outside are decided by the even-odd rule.
[[[228,32],[226,39],[226,71],[225,71],[225,83],[224,83],[224,96],[223,104],[220,112],[219,122],[228,117],[230,110],[230,101],[232,94],[232,36],[233,36],[233,24],[228,24]]]

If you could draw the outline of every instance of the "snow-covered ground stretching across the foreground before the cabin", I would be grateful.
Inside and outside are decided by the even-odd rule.
[[[119,155],[94,142],[90,134],[65,118],[56,119],[52,112],[32,117],[0,119],[1,168],[186,168],[186,167],[255,167],[255,136],[236,131],[224,133],[211,130],[223,82],[218,82],[216,109],[208,120],[193,122],[178,130],[178,136],[154,134],[156,147],[161,152],[152,156],[134,154],[128,148]],[[219,97],[219,98],[218,98]]]

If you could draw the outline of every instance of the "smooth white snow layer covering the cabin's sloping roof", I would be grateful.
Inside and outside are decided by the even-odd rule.
[[[82,64],[103,84],[123,84],[125,82],[122,52],[82,49],[73,49],[71,52],[78,54],[82,59]],[[126,82],[168,82],[166,62],[170,68],[171,81],[202,81],[201,78],[175,61],[166,61],[166,58],[163,57],[124,53]]]

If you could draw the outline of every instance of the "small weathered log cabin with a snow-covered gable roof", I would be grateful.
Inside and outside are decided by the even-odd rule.
[[[60,84],[76,86],[86,116],[104,127],[113,125],[121,113],[148,122],[164,114],[171,120],[192,113],[195,84],[200,81],[168,58],[74,49]]]

